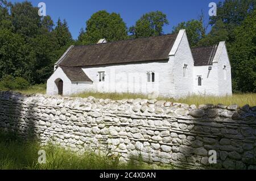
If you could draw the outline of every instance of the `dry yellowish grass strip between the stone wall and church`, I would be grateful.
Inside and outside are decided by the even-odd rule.
[[[34,85],[26,90],[14,90],[22,94],[46,94],[46,84]],[[93,96],[98,99],[112,99],[112,100],[122,100],[122,99],[148,99],[147,95],[143,94],[129,94],[129,93],[100,93],[100,92],[82,92],[80,94],[72,95],[73,97],[87,98],[88,96]],[[158,100],[167,100],[170,102],[184,103],[184,104],[238,104],[239,106],[244,106],[249,104],[250,106],[256,106],[256,93],[246,93],[246,94],[233,94],[232,96],[205,96],[205,95],[191,95],[185,98],[172,99],[159,97]]]

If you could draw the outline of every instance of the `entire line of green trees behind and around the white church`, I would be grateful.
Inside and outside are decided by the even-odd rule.
[[[191,47],[226,41],[232,64],[234,91],[256,92],[256,0],[225,0],[218,3],[217,16],[177,24],[173,33],[185,28]],[[148,12],[127,27],[121,16],[105,10],[94,13],[73,40],[68,23],[50,16],[38,16],[38,7],[30,2],[10,3],[0,0],[0,79],[24,78],[30,84],[44,83],[52,74],[53,64],[71,45],[134,39],[163,35],[168,24],[166,14]],[[208,26],[211,30],[207,33]],[[24,84],[24,83],[23,83]]]

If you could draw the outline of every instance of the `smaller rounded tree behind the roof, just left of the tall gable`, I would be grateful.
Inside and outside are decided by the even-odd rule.
[[[129,28],[131,36],[150,37],[163,35],[163,26],[169,24],[166,14],[161,11],[144,14],[135,24]]]

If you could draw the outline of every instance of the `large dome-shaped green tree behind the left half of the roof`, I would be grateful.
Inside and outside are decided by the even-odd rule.
[[[105,38],[107,41],[127,39],[127,27],[119,14],[105,10],[94,13],[86,22],[85,32],[79,37],[80,44],[95,44]]]

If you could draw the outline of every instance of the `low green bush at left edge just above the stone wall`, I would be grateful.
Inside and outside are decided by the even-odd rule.
[[[13,77],[5,75],[0,81],[0,89],[2,90],[24,90],[30,86],[30,83],[22,77]]]

